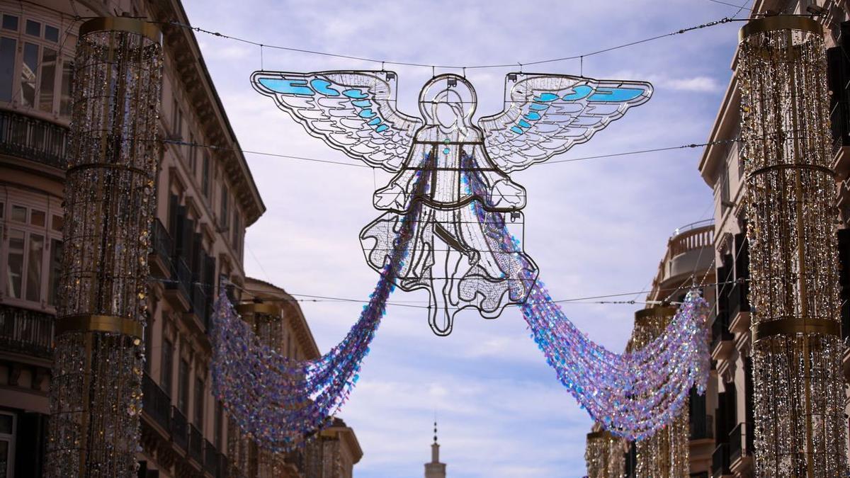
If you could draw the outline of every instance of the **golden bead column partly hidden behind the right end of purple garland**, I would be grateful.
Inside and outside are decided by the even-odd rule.
[[[677,308],[651,307],[635,312],[635,327],[626,350],[640,349],[664,333]],[[680,478],[689,475],[688,400],[671,424],[635,443],[639,478]]]

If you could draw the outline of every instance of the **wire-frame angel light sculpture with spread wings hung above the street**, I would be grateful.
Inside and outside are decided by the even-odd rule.
[[[476,125],[477,98],[466,78],[444,74],[425,83],[424,119],[399,111],[396,78],[392,71],[256,71],[252,85],[309,134],[395,174],[374,195],[384,213],[360,232],[365,258],[379,272],[388,264],[400,221],[416,206],[394,282],[427,290],[428,322],[447,335],[460,310],[495,318],[508,304],[523,304],[536,281],[537,266],[519,242],[506,250],[492,240],[523,224],[525,190],[508,174],[587,141],[649,100],[652,86],[510,73],[503,111]]]

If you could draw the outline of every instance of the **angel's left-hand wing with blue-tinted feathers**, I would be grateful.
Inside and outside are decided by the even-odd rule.
[[[254,71],[259,93],[324,139],[370,166],[399,171],[422,120],[396,110],[392,71]]]

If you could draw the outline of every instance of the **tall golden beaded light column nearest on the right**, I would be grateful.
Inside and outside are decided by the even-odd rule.
[[[738,75],[750,240],[758,476],[845,476],[836,184],[824,35],[751,20]]]

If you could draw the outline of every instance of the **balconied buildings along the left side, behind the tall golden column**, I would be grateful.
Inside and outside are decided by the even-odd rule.
[[[328,455],[338,455],[335,474],[309,475],[302,458],[281,458],[280,473],[242,467],[233,438],[238,430],[212,396],[207,327],[219,284],[232,284],[234,303],[252,296],[249,287],[258,293],[273,286],[245,276],[245,230],[265,207],[193,32],[165,25],[190,23],[178,0],[0,0],[0,476],[42,475],[82,23],[75,19],[116,14],[163,22],[163,145],[149,256],[139,476],[350,476],[362,451],[341,421],[322,433],[334,443]],[[286,354],[318,356],[292,304],[295,309],[284,308],[292,329]]]

